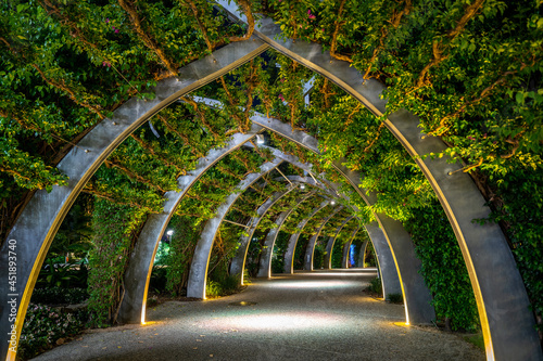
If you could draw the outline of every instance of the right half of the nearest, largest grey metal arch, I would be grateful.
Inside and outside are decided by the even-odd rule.
[[[218,3],[232,16],[244,18],[228,1]],[[375,115],[386,113],[387,100],[380,96],[384,86],[377,80],[364,79],[349,63],[331,57],[317,43],[285,39],[268,17],[262,18],[256,29],[254,34],[272,48],[333,81]],[[389,115],[384,125],[415,158],[456,234],[479,310],[487,358],[543,360],[530,301],[505,235],[498,224],[472,222],[488,218],[490,209],[470,177],[455,172],[460,166],[447,163],[451,160],[447,156],[420,157],[442,153],[446,145],[435,137],[421,133],[415,115],[400,109]]]

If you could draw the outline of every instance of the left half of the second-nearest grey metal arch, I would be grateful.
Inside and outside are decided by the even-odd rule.
[[[184,196],[207,169],[250,141],[261,130],[261,127],[254,125],[245,134],[233,134],[224,147],[210,151],[205,157],[199,159],[194,170],[177,179],[179,192],[167,192],[164,195],[163,212],[149,215],[134,247],[125,273],[125,294],[118,311],[118,320],[122,323],[146,321],[147,293],[153,270],[154,256],[161,237]]]

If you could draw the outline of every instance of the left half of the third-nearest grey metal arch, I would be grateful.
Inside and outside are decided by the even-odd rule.
[[[237,186],[238,191],[247,190],[251,184],[258,180],[263,175],[275,169],[282,160],[273,160],[261,166],[261,172],[251,173],[245,177]],[[223,222],[228,210],[233,203],[239,198],[241,192],[230,194],[226,201],[218,206],[215,217],[210,219],[200,234],[192,262],[190,265],[189,281],[187,284],[187,297],[205,299],[205,285],[207,283],[207,267],[210,266],[210,256],[213,247],[213,242],[218,232],[218,228]]]

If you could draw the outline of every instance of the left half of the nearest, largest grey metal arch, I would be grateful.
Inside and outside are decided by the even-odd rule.
[[[36,192],[7,237],[17,242],[18,296],[14,297],[17,304],[14,323],[17,344],[36,279],[54,234],[80,190],[103,160],[139,126],[179,96],[239,67],[268,48],[269,46],[261,40],[252,38],[228,44],[215,51],[213,55],[184,66],[178,78],[159,81],[153,100],[128,100],[113,112],[111,118],[98,124],[62,159],[58,168],[68,176],[68,185],[54,186],[50,193],[45,190]],[[8,246],[9,243],[3,242],[0,252],[2,279],[8,279],[9,274]],[[11,296],[8,297],[7,293],[2,293],[0,304],[5,305]],[[11,332],[12,324],[9,318],[10,312],[4,308],[0,317],[0,354],[13,360],[15,352],[8,348],[7,335]]]

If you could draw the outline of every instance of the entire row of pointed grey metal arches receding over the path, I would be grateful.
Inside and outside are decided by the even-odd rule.
[[[229,1],[218,1],[217,3],[233,18],[247,22],[244,14],[240,13],[233,3],[229,3]],[[431,153],[442,154],[446,151],[447,145],[439,137],[422,133],[418,127],[419,119],[407,109],[387,114],[387,100],[381,96],[386,87],[381,82],[376,79],[365,79],[364,75],[350,66],[349,62],[333,57],[329,51],[324,51],[318,43],[294,41],[282,36],[279,26],[272,18],[265,16],[258,20],[251,38],[232,42],[213,51],[203,59],[191,62],[179,69],[177,77],[160,80],[153,89],[153,99],[134,96],[124,102],[113,112],[112,116],[104,118],[85,134],[59,163],[58,169],[68,177],[68,184],[54,186],[50,192],[40,190],[34,194],[3,242],[0,254],[0,275],[2,279],[8,279],[11,270],[9,267],[9,247],[11,245],[9,240],[17,240],[16,289],[18,292],[13,295],[3,292],[0,296],[1,305],[10,305],[12,299],[16,300],[13,302],[14,308],[2,306],[0,318],[0,331],[3,335],[0,348],[2,357],[5,356],[9,360],[14,359],[15,353],[9,348],[11,337],[9,333],[15,330],[15,339],[18,338],[31,292],[51,242],[75,199],[97,169],[123,141],[162,109],[270,49],[336,83],[377,117],[386,117],[383,124],[387,129],[414,157],[445,210],[462,249],[477,301],[488,359],[543,359],[540,340],[534,331],[534,318],[529,309],[530,301],[502,230],[497,224],[479,224],[472,221],[473,219],[488,218],[490,214],[481,192],[468,173],[458,171],[463,167],[447,162],[446,156],[424,157],[424,155]],[[210,104],[207,102],[202,106]],[[147,218],[124,275],[126,292],[119,307],[118,318],[123,322],[144,322],[149,280],[160,240],[184,196],[200,177],[217,162],[263,132],[277,134],[316,155],[321,153],[318,140],[303,129],[294,129],[291,125],[279,119],[257,113],[253,114],[250,119],[252,125],[249,130],[231,134],[226,144],[222,144],[200,157],[194,169],[181,175],[177,179],[178,190],[165,192],[162,211],[150,214]],[[262,147],[265,149],[265,146]],[[247,175],[237,185],[238,191],[242,192],[260,181],[263,175],[278,167],[281,162],[298,165],[313,177],[314,170],[311,165],[278,150],[272,149],[270,153],[274,155],[274,159],[262,164],[258,172]],[[359,195],[368,206],[374,205],[378,195],[361,188],[364,170],[349,169],[343,163],[342,159],[338,159],[332,166],[344,178],[345,182],[351,184],[355,194]],[[301,183],[318,185],[328,194],[328,198],[323,198],[321,204],[308,219],[323,207],[330,207],[328,205],[330,199],[343,199],[345,205],[351,207],[349,208],[351,209],[350,214],[343,219],[341,227],[356,217],[358,209],[349,205],[349,196],[344,195],[337,184],[327,181],[326,177],[323,179],[324,181],[316,182],[312,178],[286,177],[283,180],[285,190],[274,194],[266,203],[262,204],[257,216],[253,217],[247,224],[250,230],[249,236],[240,241],[241,247],[232,261],[232,273],[243,274],[247,247],[252,232],[258,225],[263,215],[275,202],[299,188]],[[200,235],[192,256],[188,280],[187,295],[189,297],[205,298],[206,275],[213,243],[226,214],[240,194],[233,193],[228,196],[215,216],[207,221]],[[304,197],[311,196],[314,194],[301,195],[300,202]],[[342,207],[343,205],[331,207],[328,219],[339,212]],[[285,221],[290,211],[281,214],[277,219],[278,225]],[[376,221],[365,223],[363,227],[376,249],[384,295],[388,293],[403,294],[406,322],[430,323],[435,317],[433,307],[430,306],[431,294],[419,273],[420,261],[415,254],[411,235],[402,222],[390,216],[377,211],[372,216]],[[300,223],[300,229],[308,219]],[[325,223],[326,219],[321,227]],[[338,228],[337,233],[340,232],[341,227]],[[269,265],[276,236],[274,232],[278,231],[270,231],[269,240],[266,237],[267,253],[261,259],[258,272],[261,276],[270,275]],[[305,268],[307,270],[313,267],[312,255],[318,232],[310,240],[311,246],[306,249]],[[353,237],[354,234],[355,232]],[[289,243],[285,262],[287,272],[292,271],[291,265],[296,240],[294,234]],[[328,256],[331,254],[333,240],[334,237],[330,238],[328,243]],[[328,259],[327,267],[329,267],[329,262]],[[15,309],[16,320],[12,320],[13,309]]]

